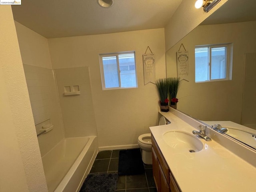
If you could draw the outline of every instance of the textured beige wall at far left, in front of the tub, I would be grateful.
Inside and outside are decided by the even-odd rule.
[[[0,6],[0,191],[46,192],[11,6]]]

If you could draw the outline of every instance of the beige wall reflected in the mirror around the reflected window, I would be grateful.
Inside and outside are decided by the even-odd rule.
[[[166,54],[167,76],[176,76],[176,52],[182,43],[189,51],[190,82],[182,81],[178,110],[200,120],[241,121],[244,54],[256,52],[256,22],[198,26]],[[202,34],[209,38],[202,38]],[[232,80],[195,83],[196,45],[233,43]],[[250,85],[254,86],[254,84]],[[206,112],[206,109],[207,110]]]

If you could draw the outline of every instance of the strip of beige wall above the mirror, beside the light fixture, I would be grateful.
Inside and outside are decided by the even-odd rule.
[[[220,1],[208,13],[203,8],[196,9],[196,0],[182,0],[180,6],[165,26],[165,49],[168,50],[210,16],[228,0]]]

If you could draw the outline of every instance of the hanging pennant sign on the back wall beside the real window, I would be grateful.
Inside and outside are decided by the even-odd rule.
[[[150,50],[151,54],[146,54],[147,50]],[[143,71],[144,71],[144,85],[149,82],[154,83],[156,81],[156,67],[155,67],[155,55],[152,53],[151,49],[146,49],[143,55]]]

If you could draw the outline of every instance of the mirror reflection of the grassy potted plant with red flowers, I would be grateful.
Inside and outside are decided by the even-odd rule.
[[[168,82],[168,87],[169,87],[169,98],[170,98],[170,102],[171,102],[171,107],[176,109],[177,102],[178,102],[178,99],[176,97],[177,97],[177,93],[178,93],[179,86],[180,86],[180,78],[179,77],[170,77],[170,78],[167,78],[167,82]]]

